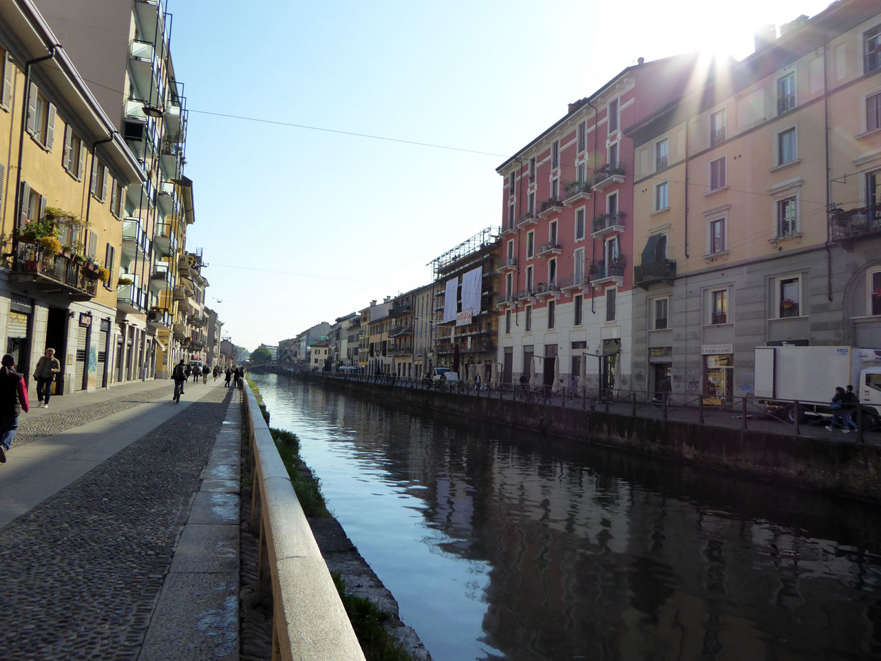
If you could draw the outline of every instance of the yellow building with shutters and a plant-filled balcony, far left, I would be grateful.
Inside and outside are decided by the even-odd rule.
[[[0,25],[4,350],[29,376],[56,349],[56,392],[106,387],[123,191],[146,175],[32,5],[0,5]]]

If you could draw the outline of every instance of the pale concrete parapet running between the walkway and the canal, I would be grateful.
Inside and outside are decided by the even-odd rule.
[[[261,586],[272,591],[272,658],[364,661],[327,565],[250,388],[245,393]],[[259,519],[259,525],[256,525]]]

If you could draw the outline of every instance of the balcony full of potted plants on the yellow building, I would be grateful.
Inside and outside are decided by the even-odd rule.
[[[61,293],[72,301],[89,301],[98,293],[98,279],[73,256],[47,255],[38,243],[19,241],[11,279],[26,282],[41,293]]]

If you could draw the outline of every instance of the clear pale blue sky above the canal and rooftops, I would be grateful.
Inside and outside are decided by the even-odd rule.
[[[827,4],[170,0],[207,302],[253,350],[426,284],[500,225],[495,167],[570,101],[640,56],[742,58],[761,24]]]

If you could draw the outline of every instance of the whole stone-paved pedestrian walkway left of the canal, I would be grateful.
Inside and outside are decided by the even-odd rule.
[[[0,658],[239,657],[241,393],[222,383],[21,416],[0,465]]]

